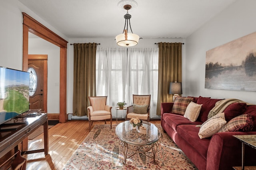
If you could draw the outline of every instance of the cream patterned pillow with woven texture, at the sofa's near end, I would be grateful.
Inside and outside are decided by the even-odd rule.
[[[208,138],[218,132],[224,125],[226,125],[224,113],[219,113],[207,121],[205,121],[198,132],[200,139]]]

